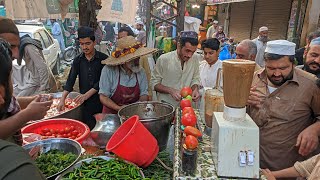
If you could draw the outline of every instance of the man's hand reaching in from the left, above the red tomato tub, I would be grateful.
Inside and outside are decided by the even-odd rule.
[[[29,115],[30,120],[39,120],[42,119],[46,114],[47,111],[50,109],[52,101],[44,101],[40,102],[41,97],[37,96],[26,109],[25,111],[27,115]]]

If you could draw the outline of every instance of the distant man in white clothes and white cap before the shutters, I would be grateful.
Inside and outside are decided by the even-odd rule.
[[[267,47],[268,39],[268,27],[262,26],[259,28],[259,36],[252,40],[257,45],[257,55],[256,55],[256,63],[260,67],[264,67],[264,51]]]

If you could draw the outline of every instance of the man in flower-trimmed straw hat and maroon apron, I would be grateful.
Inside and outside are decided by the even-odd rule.
[[[123,105],[148,100],[148,80],[139,60],[155,51],[143,47],[132,36],[118,40],[116,50],[102,61],[106,65],[99,83],[102,113],[115,114]]]

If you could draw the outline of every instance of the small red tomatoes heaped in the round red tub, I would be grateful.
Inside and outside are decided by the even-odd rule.
[[[59,129],[43,128],[40,131],[42,139],[47,139],[51,137],[76,139],[80,137],[82,134],[83,133],[77,130],[74,126],[67,126],[65,128]]]

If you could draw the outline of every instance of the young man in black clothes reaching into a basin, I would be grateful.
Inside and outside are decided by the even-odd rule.
[[[93,115],[102,111],[98,94],[99,80],[103,68],[101,61],[107,59],[108,56],[94,49],[96,41],[92,28],[80,27],[78,29],[78,39],[83,53],[78,55],[72,63],[58,104],[58,110],[64,109],[65,100],[68,94],[73,91],[74,83],[78,77],[81,95],[76,97],[75,102],[83,103],[83,109],[81,110],[83,121],[90,129],[93,129],[96,123]]]

